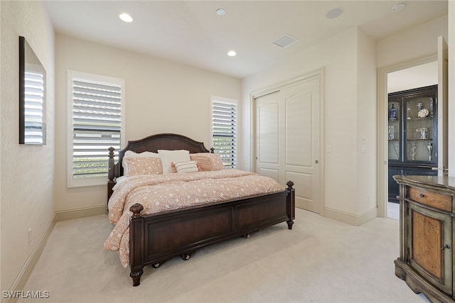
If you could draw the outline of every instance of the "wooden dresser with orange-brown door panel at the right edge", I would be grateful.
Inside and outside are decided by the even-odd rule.
[[[396,175],[400,258],[395,275],[431,302],[455,302],[455,177]]]

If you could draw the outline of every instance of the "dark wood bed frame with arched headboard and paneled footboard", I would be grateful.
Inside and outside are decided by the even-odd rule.
[[[114,148],[109,148],[108,199],[112,195],[115,178],[123,175],[122,158],[127,150],[156,153],[159,149],[210,152],[203,143],[173,133],[129,141],[124,149],[119,150],[117,163],[114,162]],[[129,275],[133,286],[140,284],[146,265],[158,268],[165,260],[176,255],[188,260],[198,248],[237,236],[248,238],[252,232],[284,221],[292,229],[295,218],[293,185],[289,181],[287,189],[281,192],[257,194],[158,214],[141,215],[144,206],[134,204],[130,207],[133,214],[129,226]]]

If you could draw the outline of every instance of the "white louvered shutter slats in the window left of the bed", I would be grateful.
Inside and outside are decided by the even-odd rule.
[[[73,177],[107,176],[107,148],[120,149],[122,87],[73,79]]]

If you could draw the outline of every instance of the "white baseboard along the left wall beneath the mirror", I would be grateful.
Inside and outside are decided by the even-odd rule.
[[[33,250],[31,250],[30,255],[28,255],[26,263],[24,263],[24,265],[22,266],[16,279],[13,282],[13,285],[11,285],[9,291],[14,292],[14,291],[19,291],[19,290],[24,289],[24,287],[26,286],[28,277],[30,277],[33,268],[35,267],[36,263],[38,262],[38,259],[41,256],[41,253],[43,253],[45,243],[48,241],[50,232],[52,231],[54,225],[55,225],[55,215],[52,216],[52,218],[48,222],[47,226],[45,226],[44,232],[41,234],[41,237],[38,239],[36,246],[33,248]],[[3,298],[3,296],[2,296],[1,302],[2,303],[6,303],[6,302],[13,303],[13,302],[17,302],[17,299],[18,298]]]

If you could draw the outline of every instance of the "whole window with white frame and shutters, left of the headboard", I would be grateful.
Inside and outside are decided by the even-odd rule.
[[[68,71],[68,187],[106,184],[123,145],[124,80]]]

